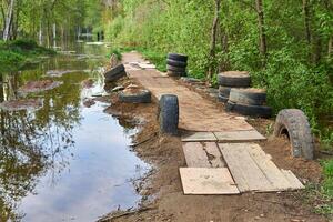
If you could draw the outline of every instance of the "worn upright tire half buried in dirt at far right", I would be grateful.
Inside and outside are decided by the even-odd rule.
[[[292,144],[292,157],[313,160],[314,139],[309,120],[303,111],[297,109],[281,110],[276,117],[274,135],[287,133]]]

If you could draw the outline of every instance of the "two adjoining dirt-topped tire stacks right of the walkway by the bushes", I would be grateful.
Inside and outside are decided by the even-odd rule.
[[[270,118],[272,109],[266,107],[266,92],[250,88],[248,72],[230,71],[218,75],[219,100],[226,103],[226,111],[255,118]]]

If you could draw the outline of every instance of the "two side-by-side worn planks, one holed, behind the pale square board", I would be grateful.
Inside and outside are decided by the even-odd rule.
[[[216,143],[183,142],[183,152],[189,168],[224,168]]]

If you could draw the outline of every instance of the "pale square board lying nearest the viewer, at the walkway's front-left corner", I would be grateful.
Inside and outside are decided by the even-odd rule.
[[[239,194],[226,168],[181,168],[184,194]]]

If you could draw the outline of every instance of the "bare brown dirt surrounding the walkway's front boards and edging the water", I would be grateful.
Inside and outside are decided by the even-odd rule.
[[[121,80],[118,84],[130,83],[135,82]],[[184,195],[179,175],[179,168],[185,167],[181,140],[180,137],[160,134],[157,101],[154,100],[151,104],[124,104],[118,101],[115,94],[112,94],[111,103],[112,105],[105,112],[119,117],[120,121],[141,124],[140,132],[133,139],[132,149],[140,158],[153,164],[154,170],[142,180],[138,189],[143,196],[141,210],[135,213],[113,212],[101,221],[325,221],[324,218],[312,213],[314,206],[305,203],[302,198],[304,191],[241,195]],[[254,127],[261,132],[265,132],[271,123],[263,120],[254,122],[256,122]],[[269,139],[260,144],[273,157],[279,167],[292,170],[305,181],[320,180],[319,163],[291,159],[286,140]]]

